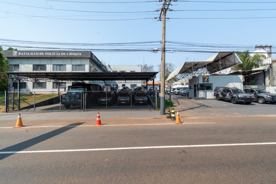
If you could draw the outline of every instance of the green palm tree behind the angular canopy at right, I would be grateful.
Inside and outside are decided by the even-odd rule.
[[[236,69],[242,69],[243,71],[252,70],[254,68],[259,67],[259,62],[262,58],[266,56],[261,54],[255,54],[254,56],[249,55],[249,50],[243,52],[236,52],[237,56],[239,56],[240,60],[243,62],[239,65],[236,65]]]

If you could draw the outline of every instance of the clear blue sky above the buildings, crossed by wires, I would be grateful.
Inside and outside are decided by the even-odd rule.
[[[167,52],[166,62],[174,63],[178,67],[185,61],[204,61],[214,55],[214,53],[193,52],[194,49],[213,52],[244,51],[247,49],[254,51],[255,45],[272,45],[272,52],[275,51],[276,18],[260,18],[276,17],[275,0],[202,1],[171,3],[173,6],[169,8],[177,11],[167,12],[167,18],[171,19],[166,21],[166,41],[186,42],[187,44],[182,43],[178,46],[175,43],[167,43],[166,48],[181,48],[188,52]],[[87,44],[157,41],[154,44],[145,43],[142,46],[131,46],[129,44],[126,46],[87,46],[84,44],[83,46],[70,45],[68,47],[46,44],[31,45],[31,47],[43,47],[41,50],[52,50],[44,47],[64,48],[59,50],[69,50],[69,48],[86,49],[92,51],[98,59],[110,65],[137,65],[144,62],[156,66],[161,63],[161,52],[153,53],[147,50],[161,48],[161,42],[158,41],[161,41],[162,38],[162,21],[154,19],[154,17],[159,17],[160,12],[153,11],[162,8],[162,4],[163,2],[150,0],[0,0],[0,39],[8,40],[0,40],[0,45],[3,49],[6,49],[7,46],[13,48],[28,46],[27,43],[14,43],[9,40]],[[200,45],[202,47],[199,47]],[[142,48],[145,51],[111,52],[94,50],[137,48]],[[25,48],[24,50],[37,49],[39,48]],[[275,54],[272,56],[275,57]],[[157,71],[157,67],[155,70]]]

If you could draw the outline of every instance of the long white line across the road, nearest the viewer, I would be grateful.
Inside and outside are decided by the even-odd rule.
[[[72,151],[108,151],[108,150],[126,150],[126,149],[154,149],[154,148],[189,148],[189,147],[212,147],[212,146],[248,146],[248,145],[267,145],[271,143],[240,143],[240,144],[202,144],[202,145],[179,145],[179,146],[144,146],[128,148],[94,148],[94,149],[71,149],[71,150],[41,150],[41,151],[3,151],[0,154],[14,153],[49,153],[49,152],[72,152]]]

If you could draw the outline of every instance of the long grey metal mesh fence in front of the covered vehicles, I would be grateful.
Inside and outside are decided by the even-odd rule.
[[[158,91],[8,92],[7,112],[156,109]],[[160,102],[159,102],[160,103]]]

